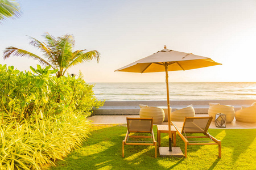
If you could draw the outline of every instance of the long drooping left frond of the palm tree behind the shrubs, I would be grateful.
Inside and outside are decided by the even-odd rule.
[[[9,58],[12,54],[16,57],[27,57],[35,59],[36,61],[39,61],[40,64],[51,66],[54,69],[54,67],[43,58],[37,56],[36,54],[27,52],[26,50],[15,48],[14,46],[9,46],[3,50],[3,59]]]

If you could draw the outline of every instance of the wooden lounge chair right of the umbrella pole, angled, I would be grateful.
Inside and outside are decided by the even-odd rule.
[[[188,145],[218,145],[218,158],[221,158],[221,141],[208,133],[211,121],[212,117],[185,117],[184,122],[172,121],[180,138],[185,142],[185,158],[187,158]],[[204,134],[204,136],[187,136],[192,133]],[[189,141],[189,138],[209,138],[210,141]]]

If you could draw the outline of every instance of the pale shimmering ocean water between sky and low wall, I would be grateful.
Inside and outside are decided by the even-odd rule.
[[[89,83],[99,100],[166,100],[166,83]],[[169,83],[170,100],[256,99],[256,82]]]

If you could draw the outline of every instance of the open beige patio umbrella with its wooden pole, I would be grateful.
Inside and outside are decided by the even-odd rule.
[[[221,63],[217,63],[208,57],[196,56],[192,53],[170,50],[164,45],[164,49],[160,50],[159,52],[139,59],[138,61],[130,63],[129,65],[115,71],[126,71],[133,73],[166,72],[169,151],[172,151],[168,71],[191,70],[215,65],[221,65]]]

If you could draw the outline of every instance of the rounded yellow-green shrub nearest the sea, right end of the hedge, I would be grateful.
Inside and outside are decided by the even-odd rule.
[[[97,109],[104,104],[104,101],[98,101],[93,93],[93,85],[86,84],[82,74],[78,78],[71,76],[52,77],[49,84],[52,89],[49,96],[51,99],[47,105],[48,111],[59,113],[65,109],[75,109],[90,115],[92,109]],[[56,103],[56,101],[59,101]]]

